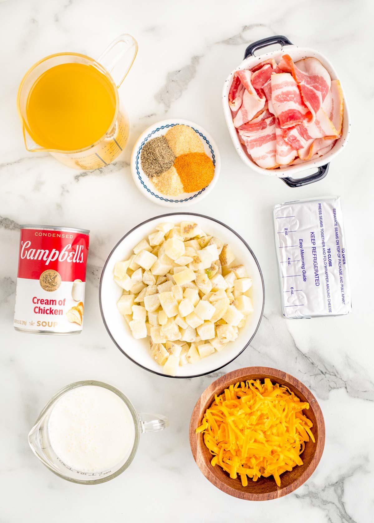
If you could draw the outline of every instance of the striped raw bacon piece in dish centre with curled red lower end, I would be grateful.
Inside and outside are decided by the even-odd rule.
[[[310,111],[302,102],[298,84],[288,73],[271,75],[271,102],[283,129],[298,126],[311,118]]]

